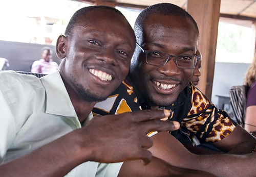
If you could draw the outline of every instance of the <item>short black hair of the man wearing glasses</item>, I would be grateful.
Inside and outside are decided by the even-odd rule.
[[[169,16],[181,16],[184,18],[188,18],[194,23],[199,36],[199,29],[198,29],[197,23],[195,19],[187,11],[185,11],[181,7],[176,6],[174,4],[160,3],[144,9],[143,11],[141,11],[139,16],[137,17],[134,25],[134,33],[136,36],[136,41],[139,44],[142,44],[142,39],[143,39],[142,29],[143,29],[144,23],[147,20],[147,18],[150,17],[151,14],[153,13],[161,14],[161,15],[169,15]]]

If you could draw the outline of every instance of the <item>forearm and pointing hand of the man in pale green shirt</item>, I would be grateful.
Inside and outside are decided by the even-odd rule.
[[[147,148],[153,142],[145,134],[179,128],[172,122],[159,120],[168,115],[167,110],[146,110],[95,117],[83,128],[2,164],[0,175],[64,176],[87,161],[113,163],[142,159],[147,164],[152,158]]]

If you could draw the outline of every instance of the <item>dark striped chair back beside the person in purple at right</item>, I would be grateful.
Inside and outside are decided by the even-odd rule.
[[[247,92],[249,87],[246,85],[232,86],[229,90],[230,103],[237,118],[237,122],[244,128]]]

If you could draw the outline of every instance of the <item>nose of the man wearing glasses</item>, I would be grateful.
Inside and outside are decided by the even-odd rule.
[[[158,67],[158,72],[167,76],[174,76],[179,75],[181,73],[181,69],[177,67],[175,58],[169,58],[169,61],[164,66]]]

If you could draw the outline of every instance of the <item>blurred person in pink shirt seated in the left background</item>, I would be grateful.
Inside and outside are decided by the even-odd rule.
[[[43,47],[41,49],[41,59],[33,62],[31,72],[50,74],[58,70],[58,68],[59,65],[52,61],[52,49],[50,47]]]

